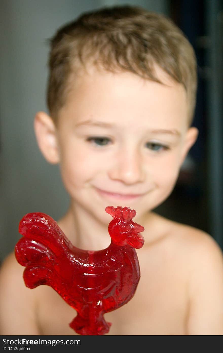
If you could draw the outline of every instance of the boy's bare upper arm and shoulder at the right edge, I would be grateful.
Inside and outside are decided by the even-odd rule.
[[[175,224],[179,253],[188,270],[189,335],[223,335],[223,253],[200,229]],[[178,240],[178,241],[177,241]]]

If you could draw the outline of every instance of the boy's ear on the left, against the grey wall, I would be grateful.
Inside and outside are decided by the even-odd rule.
[[[34,130],[43,156],[49,163],[57,164],[59,162],[59,148],[57,130],[52,118],[44,112],[36,113]]]

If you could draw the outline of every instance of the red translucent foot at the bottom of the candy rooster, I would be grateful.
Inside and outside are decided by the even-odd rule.
[[[108,333],[111,323],[104,319],[102,302],[86,305],[70,323],[70,327],[80,335],[104,335]]]

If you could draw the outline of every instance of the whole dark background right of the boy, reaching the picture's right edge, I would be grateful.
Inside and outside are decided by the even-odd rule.
[[[211,4],[211,1],[209,3]],[[222,78],[223,70],[219,62],[223,54],[223,2],[212,1],[212,6],[209,6],[205,1],[172,0],[169,1],[169,5],[170,17],[188,37],[198,61],[197,103],[192,125],[198,128],[199,136],[189,151],[174,191],[155,211],[172,220],[212,234],[223,247],[221,142],[223,96],[222,80],[215,82],[215,76],[219,80]],[[208,17],[213,17],[215,22],[210,23]],[[214,89],[216,90],[213,93]],[[218,96],[215,107],[217,112],[210,104],[212,94]],[[217,159],[214,164],[213,158]],[[214,188],[211,187],[212,183],[215,183]]]

